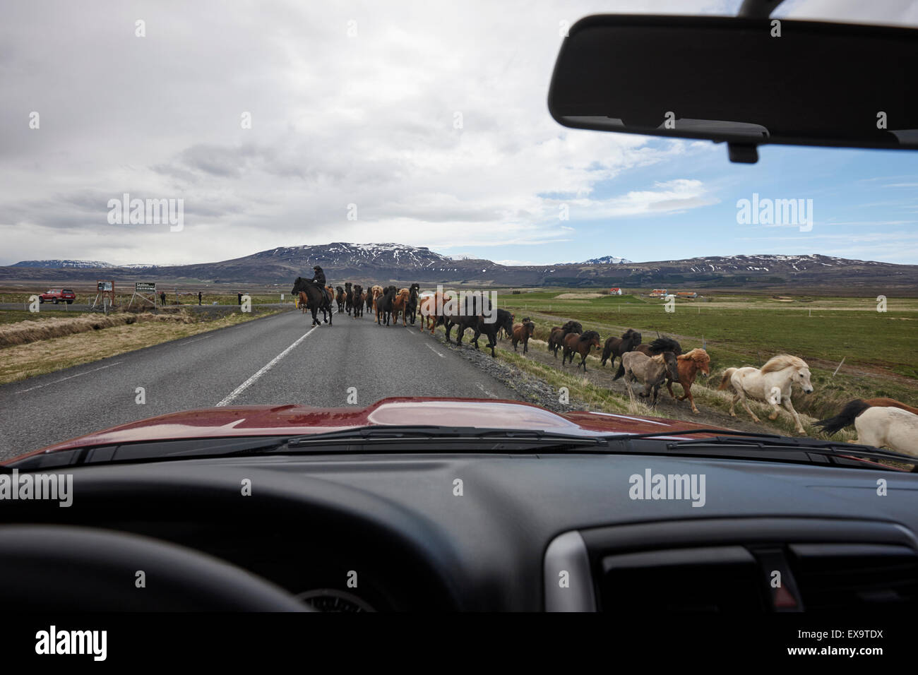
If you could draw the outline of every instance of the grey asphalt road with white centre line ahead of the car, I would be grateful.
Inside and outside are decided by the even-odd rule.
[[[418,327],[299,311],[162,343],[0,387],[0,458],[168,412],[217,405],[346,407],[387,396],[514,399]],[[144,404],[136,389],[145,390]]]

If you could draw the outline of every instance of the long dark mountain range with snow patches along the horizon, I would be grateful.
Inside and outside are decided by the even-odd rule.
[[[918,265],[849,260],[827,255],[728,255],[633,263],[615,256],[582,263],[504,265],[452,258],[426,247],[398,243],[283,246],[216,263],[110,265],[99,261],[29,260],[0,267],[0,280],[61,283],[118,278],[124,282],[169,279],[189,283],[276,284],[311,276],[319,264],[329,282],[473,284],[563,287],[837,288],[863,293],[918,295]]]

